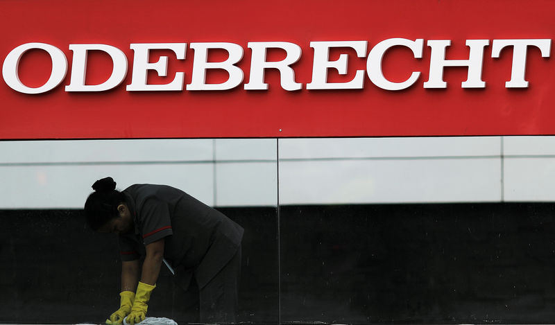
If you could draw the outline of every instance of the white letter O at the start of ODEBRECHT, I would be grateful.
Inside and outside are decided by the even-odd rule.
[[[31,49],[42,49],[49,53],[52,60],[52,72],[46,83],[40,87],[32,88],[23,85],[19,80],[19,60],[22,55]],[[56,88],[64,80],[67,73],[67,58],[56,46],[44,43],[27,43],[17,46],[6,56],[2,66],[2,76],[10,88],[24,94],[42,94]]]

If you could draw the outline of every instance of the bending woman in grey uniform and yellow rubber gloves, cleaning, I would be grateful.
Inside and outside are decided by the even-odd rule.
[[[164,260],[182,288],[196,282],[200,322],[235,322],[241,226],[171,186],[135,184],[120,192],[114,179],[105,177],[92,188],[85,202],[87,223],[94,231],[117,234],[122,262],[121,304],[107,324],[145,319]]]

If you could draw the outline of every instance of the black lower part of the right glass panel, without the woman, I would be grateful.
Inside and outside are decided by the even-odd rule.
[[[546,324],[555,204],[280,207],[281,319]]]

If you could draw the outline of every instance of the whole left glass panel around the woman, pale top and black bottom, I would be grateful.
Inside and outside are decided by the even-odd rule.
[[[7,185],[0,190],[0,271],[8,292],[0,304],[10,310],[0,322],[99,323],[119,307],[117,236],[86,227],[83,213],[91,184],[110,175],[120,190],[180,188],[244,228],[239,309],[230,320],[277,323],[277,164],[275,139],[263,140],[0,142]],[[179,283],[162,265],[148,316],[200,321],[198,286],[183,290]]]

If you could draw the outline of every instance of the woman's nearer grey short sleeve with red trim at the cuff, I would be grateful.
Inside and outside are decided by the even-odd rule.
[[[171,236],[171,217],[167,203],[150,198],[141,207],[142,229],[144,245],[154,243],[164,237]]]

